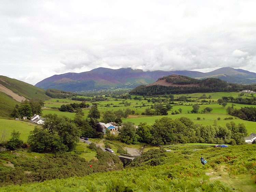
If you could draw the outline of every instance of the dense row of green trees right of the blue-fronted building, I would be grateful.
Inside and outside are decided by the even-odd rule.
[[[136,129],[131,122],[126,122],[120,128],[117,139],[126,144],[137,144],[139,142],[166,145],[176,143],[218,143],[218,144],[244,144],[244,137],[247,130],[243,123],[227,123],[226,126],[194,124],[189,118],[181,117],[171,119],[163,117],[156,119],[150,126],[147,123],[140,123]]]

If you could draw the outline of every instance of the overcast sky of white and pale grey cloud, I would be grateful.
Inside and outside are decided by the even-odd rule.
[[[98,67],[256,72],[255,0],[2,0],[0,75]]]

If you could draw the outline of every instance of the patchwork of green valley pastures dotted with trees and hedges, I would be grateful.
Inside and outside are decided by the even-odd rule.
[[[206,97],[211,96],[211,99],[205,99],[207,101],[211,100],[214,102],[209,103],[201,103],[202,99],[199,99],[202,97],[202,95],[205,94]],[[151,105],[154,104],[159,104],[159,103],[152,103],[152,102],[148,102],[147,100],[134,100],[133,98],[136,97],[136,95],[131,95],[131,99],[116,99],[116,98],[110,98],[107,97],[107,101],[96,101],[96,103],[98,103],[98,110],[101,114],[101,118],[98,119],[99,121],[102,119],[102,115],[105,111],[117,111],[117,110],[123,110],[125,111],[126,108],[129,108],[131,110],[134,110],[135,114],[134,115],[129,115],[127,118],[123,118],[123,122],[127,122],[127,121],[131,121],[133,122],[135,125],[138,125],[140,122],[146,122],[149,125],[154,124],[155,119],[160,119],[162,117],[170,117],[172,119],[176,119],[176,118],[180,118],[180,117],[188,117],[190,118],[194,123],[198,123],[198,124],[203,124],[203,125],[212,125],[214,123],[214,120],[216,120],[218,117],[221,118],[221,120],[218,120],[217,123],[220,125],[226,125],[227,122],[230,121],[234,121],[236,124],[237,123],[244,123],[247,130],[248,130],[248,134],[256,132],[256,122],[250,122],[250,121],[244,121],[242,119],[233,117],[233,120],[224,120],[224,118],[227,117],[232,117],[230,115],[228,115],[226,113],[226,109],[228,106],[232,106],[232,103],[228,103],[226,107],[223,107],[222,105],[219,105],[217,102],[218,99],[222,98],[222,97],[229,97],[232,96],[234,98],[238,98],[239,97],[239,92],[216,92],[216,93],[192,93],[192,94],[175,94],[174,98],[179,98],[181,96],[186,96],[187,98],[189,97],[189,99],[195,99],[196,102],[181,102],[181,101],[174,101],[175,104],[171,104],[173,106],[173,108],[171,110],[168,111],[168,115],[167,116],[145,116],[145,115],[141,115],[146,108],[150,108]],[[79,98],[91,98],[93,99],[94,97],[85,97],[85,96],[77,96]],[[104,97],[104,95],[103,95]],[[143,99],[142,96],[137,96],[137,97],[141,97]],[[243,95],[243,98],[246,98],[247,96]],[[149,99],[152,99],[152,97],[147,97]],[[157,97],[154,97],[157,98]],[[163,97],[159,97],[162,99],[168,99],[167,102],[161,102],[163,105],[169,103],[169,98],[163,98]],[[58,102],[57,102],[58,100]],[[47,108],[43,108],[43,115],[45,114],[57,114],[57,115],[64,115],[67,116],[71,119],[73,119],[75,117],[75,113],[69,113],[69,112],[61,112],[58,109],[52,109],[49,107],[60,107],[62,104],[70,104],[70,103],[81,103],[82,101],[74,101],[74,100],[69,100],[69,99],[51,99],[49,101],[45,101],[45,106],[47,106]],[[128,102],[130,103],[129,106],[124,106],[125,103]],[[92,104],[92,102],[86,102],[88,104]],[[200,108],[199,108],[199,113],[197,114],[191,114],[190,111],[193,109],[193,105],[195,104],[199,104]],[[107,104],[110,104],[109,106],[106,106]],[[143,106],[144,105],[144,106]],[[240,107],[255,107],[255,105],[245,105],[245,104],[237,104],[234,103],[233,104],[234,108],[239,109]],[[113,107],[115,106],[115,107]],[[205,107],[211,107],[213,110],[211,113],[200,113],[202,109],[204,109]],[[180,114],[176,114],[176,115],[171,115],[172,112],[178,111],[178,109],[182,109],[182,113]],[[85,108],[83,109],[84,112],[84,119],[87,118],[87,115],[89,113],[89,109],[90,108]],[[200,117],[200,120],[197,120],[197,118]]]

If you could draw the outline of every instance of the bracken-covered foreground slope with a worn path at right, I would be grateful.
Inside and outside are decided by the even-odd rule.
[[[160,165],[42,183],[2,187],[1,191],[247,191],[256,190],[249,170],[255,169],[256,145],[170,148]],[[200,157],[208,163],[203,166]],[[152,159],[148,163],[152,162]]]

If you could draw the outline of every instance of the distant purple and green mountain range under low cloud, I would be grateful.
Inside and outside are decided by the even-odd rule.
[[[158,78],[172,74],[184,75],[197,79],[219,78],[228,83],[255,84],[256,73],[233,69],[220,68],[208,73],[198,71],[142,71],[140,69],[97,68],[82,73],[65,73],[48,77],[35,86],[42,89],[60,89],[65,91],[82,92],[115,88],[135,88],[139,85],[154,83]]]

